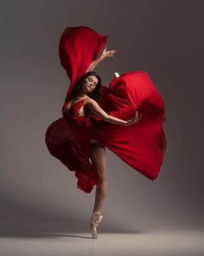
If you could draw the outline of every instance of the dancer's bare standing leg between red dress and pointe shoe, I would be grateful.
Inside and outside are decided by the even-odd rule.
[[[92,143],[91,147],[92,147],[92,155],[91,155],[92,164],[95,165],[98,172],[98,177],[99,177],[99,182],[96,188],[93,212],[100,212],[105,200],[105,196],[107,194],[105,146],[97,142],[97,143]]]

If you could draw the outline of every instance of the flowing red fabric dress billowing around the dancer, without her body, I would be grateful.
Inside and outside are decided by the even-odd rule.
[[[136,112],[142,119],[131,126],[113,124],[91,113],[79,116],[86,99],[67,111],[75,82],[99,55],[107,36],[86,26],[68,27],[60,41],[61,65],[70,85],[62,108],[62,117],[46,131],[48,151],[78,179],[77,187],[91,193],[98,183],[97,170],[90,161],[91,139],[99,141],[137,172],[154,181],[162,167],[167,141],[163,132],[165,109],[150,76],[143,70],[131,70],[113,78],[109,87],[102,86],[99,106],[109,115],[130,120]]]

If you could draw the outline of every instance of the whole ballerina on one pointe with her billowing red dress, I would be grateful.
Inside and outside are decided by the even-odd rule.
[[[68,27],[63,32],[59,53],[70,85],[63,117],[50,124],[46,132],[50,154],[75,173],[77,187],[91,193],[97,186],[90,220],[93,239],[98,237],[107,194],[105,148],[154,181],[167,145],[163,97],[150,76],[142,70],[123,75],[114,72],[107,88],[94,71],[99,62],[116,53],[105,47],[98,57],[106,38],[85,26]]]

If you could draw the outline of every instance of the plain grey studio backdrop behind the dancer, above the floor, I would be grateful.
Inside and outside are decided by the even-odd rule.
[[[88,230],[85,194],[48,153],[69,80],[58,45],[68,26],[108,37],[116,56],[96,71],[142,69],[163,95],[168,148],[156,181],[107,149],[108,195],[100,230],[203,228],[203,1],[1,1],[1,233]],[[36,227],[37,226],[37,227]],[[4,228],[3,228],[4,227]]]

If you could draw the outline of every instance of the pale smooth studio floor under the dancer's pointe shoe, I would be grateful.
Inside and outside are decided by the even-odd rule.
[[[204,255],[204,231],[166,230],[137,233],[38,233],[0,238],[1,256],[197,256]]]

